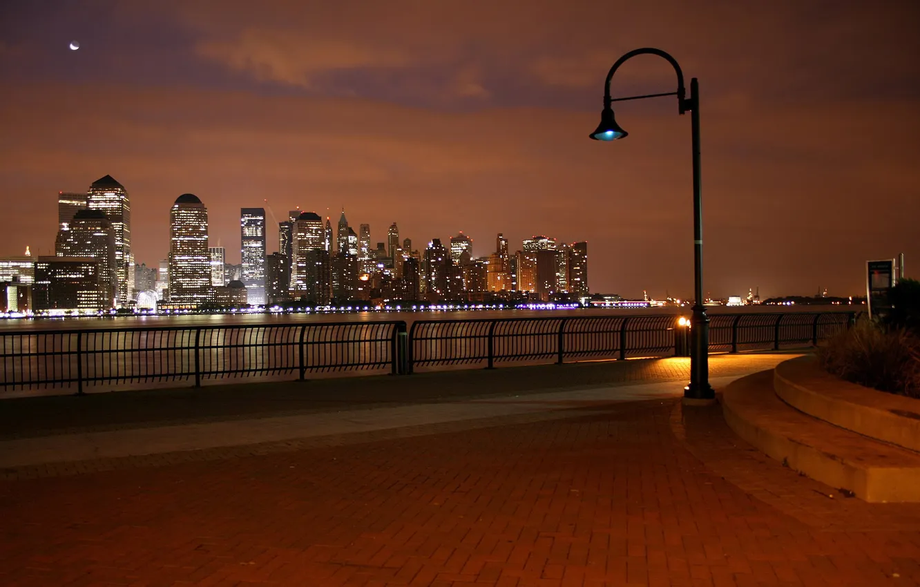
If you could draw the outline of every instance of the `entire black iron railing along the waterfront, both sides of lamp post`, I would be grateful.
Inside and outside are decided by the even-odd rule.
[[[710,317],[709,351],[817,345],[854,312]],[[4,389],[130,386],[157,382],[342,371],[410,374],[415,367],[684,355],[689,332],[674,316],[584,316],[201,326],[0,330]]]

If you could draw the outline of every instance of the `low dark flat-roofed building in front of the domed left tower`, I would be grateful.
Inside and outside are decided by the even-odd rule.
[[[32,283],[36,311],[95,313],[106,305],[99,294],[98,261],[91,257],[39,257]]]

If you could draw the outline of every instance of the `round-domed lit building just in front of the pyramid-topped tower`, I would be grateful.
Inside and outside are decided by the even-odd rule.
[[[75,213],[67,228],[58,232],[54,253],[57,257],[96,259],[99,305],[104,309],[115,306],[115,293],[118,287],[118,274],[115,270],[115,234],[105,213],[89,209]]]

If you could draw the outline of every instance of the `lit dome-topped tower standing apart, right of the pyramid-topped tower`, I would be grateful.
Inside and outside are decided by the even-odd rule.
[[[211,298],[208,209],[185,193],[169,210],[169,304],[196,308]]]

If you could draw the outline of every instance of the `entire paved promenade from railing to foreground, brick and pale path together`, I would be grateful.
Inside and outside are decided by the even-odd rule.
[[[714,380],[783,358],[714,358]],[[216,388],[4,403],[0,454],[57,443],[69,460],[7,467],[0,584],[920,584],[920,506],[846,499],[765,458],[718,407],[682,409],[686,371],[225,388],[233,409]],[[135,454],[154,441],[172,444]],[[90,444],[113,452],[84,458]]]

